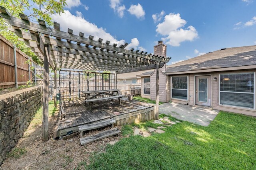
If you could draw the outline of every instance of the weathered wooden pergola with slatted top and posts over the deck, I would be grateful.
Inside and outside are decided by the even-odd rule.
[[[84,33],[74,35],[72,29],[67,32],[60,30],[60,24],[54,22],[54,28],[48,27],[46,22],[38,20],[31,22],[25,14],[20,18],[10,15],[6,8],[0,6],[0,17],[12,27],[9,28],[20,37],[24,43],[44,61],[44,82],[42,101],[43,140],[48,140],[48,86],[49,66],[54,70],[54,84],[56,92],[56,72],[58,69],[80,70],[109,70],[117,74],[156,69],[156,119],[158,119],[158,84],[159,68],[164,66],[170,58],[148,54],[144,51],[124,49],[128,43],[120,45],[110,41],[103,43],[103,39],[94,40]],[[117,81],[116,81],[117,88]],[[56,96],[54,98],[56,103]]]

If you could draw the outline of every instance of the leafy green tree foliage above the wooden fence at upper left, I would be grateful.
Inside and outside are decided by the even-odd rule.
[[[28,18],[31,21],[41,19],[46,21],[49,26],[53,25],[50,15],[60,15],[64,12],[63,8],[65,5],[66,0],[0,0],[0,6],[5,7],[12,16],[20,18],[19,13],[24,13],[25,10],[29,10],[30,15]],[[16,45],[16,47],[26,55],[32,57],[34,62],[40,63],[40,59],[38,59],[30,48],[26,47],[23,41],[19,41],[18,36],[12,31],[9,31],[8,27],[10,27],[10,25],[0,18],[0,34],[12,44]]]

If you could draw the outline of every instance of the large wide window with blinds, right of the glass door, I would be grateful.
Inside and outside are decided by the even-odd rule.
[[[220,74],[220,104],[254,108],[254,72]]]

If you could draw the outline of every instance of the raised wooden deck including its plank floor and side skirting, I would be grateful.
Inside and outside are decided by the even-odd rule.
[[[85,125],[110,119],[116,120],[115,125],[124,123],[138,123],[154,119],[155,106],[136,100],[129,101],[128,98],[122,98],[122,104],[118,99],[93,102],[91,109],[85,105],[83,100],[63,101],[62,114],[59,116],[56,137],[78,132],[79,125]],[[61,119],[62,117],[62,119]]]

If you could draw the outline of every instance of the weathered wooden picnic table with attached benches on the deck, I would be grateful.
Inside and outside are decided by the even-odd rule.
[[[85,104],[88,103],[89,109],[91,109],[92,102],[98,102],[102,100],[118,98],[119,104],[121,104],[121,98],[125,95],[119,94],[119,89],[110,89],[110,90],[91,90],[91,91],[82,91],[85,94]],[[107,96],[107,97],[105,97]],[[97,98],[96,98],[97,97]]]

